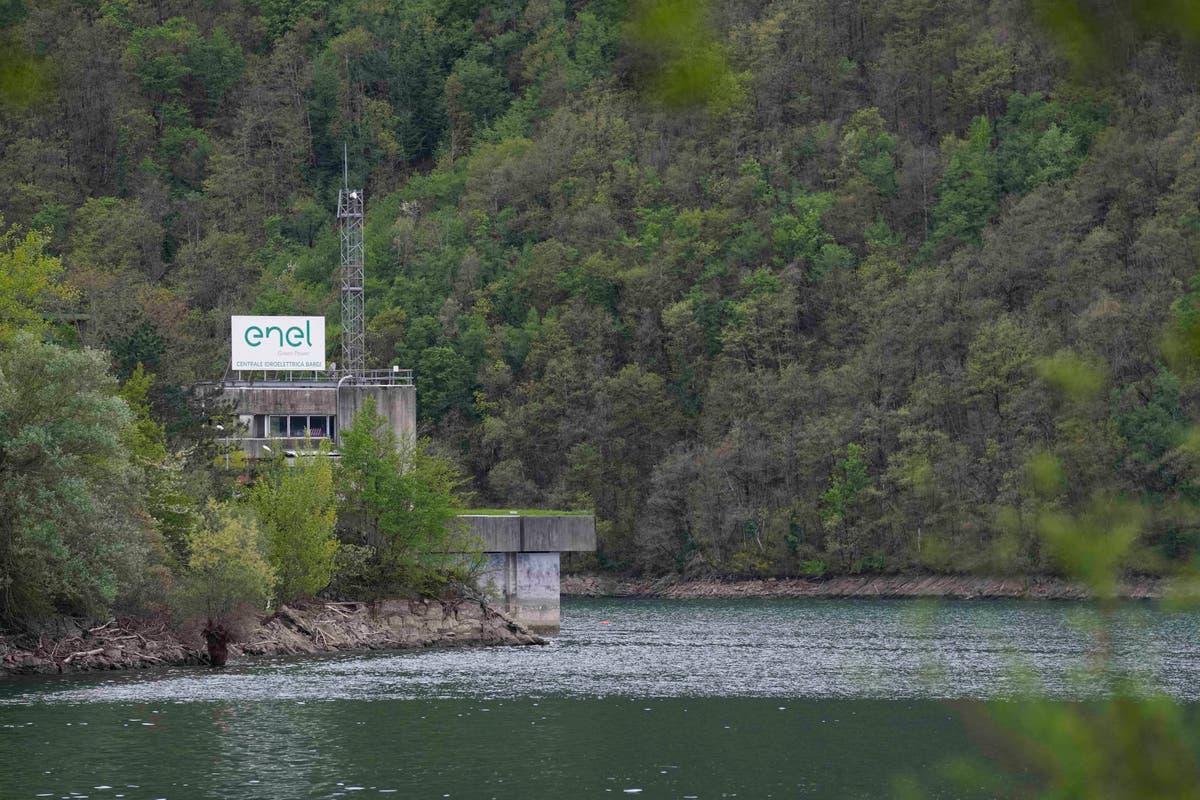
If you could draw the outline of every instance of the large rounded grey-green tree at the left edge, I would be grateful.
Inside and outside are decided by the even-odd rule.
[[[103,614],[157,549],[103,354],[0,348],[0,618]]]

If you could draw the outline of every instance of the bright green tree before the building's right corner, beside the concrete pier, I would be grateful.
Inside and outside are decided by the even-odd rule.
[[[458,533],[458,469],[425,441],[398,440],[367,401],[342,431],[337,482],[341,536],[371,549],[374,594],[434,588]]]

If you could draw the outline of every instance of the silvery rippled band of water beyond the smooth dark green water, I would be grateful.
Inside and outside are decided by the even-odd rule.
[[[1078,603],[637,601],[564,603],[545,648],[257,661],[25,682],[0,705],[539,697],[994,698],[1028,682],[1094,696],[1091,612]],[[604,620],[607,624],[600,625]],[[1112,649],[1148,688],[1200,699],[1193,615],[1129,604]]]

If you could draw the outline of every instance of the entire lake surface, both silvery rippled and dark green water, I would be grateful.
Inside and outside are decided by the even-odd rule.
[[[1072,603],[568,601],[563,622],[545,648],[0,679],[0,799],[876,798],[905,775],[986,796],[940,777],[989,754],[980,700],[1097,692]],[[1129,604],[1112,646],[1190,703],[1198,633]]]

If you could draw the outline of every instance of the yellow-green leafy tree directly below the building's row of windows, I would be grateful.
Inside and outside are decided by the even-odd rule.
[[[311,597],[334,576],[337,510],[329,453],[329,443],[322,443],[316,456],[277,461],[250,494],[281,602]]]

